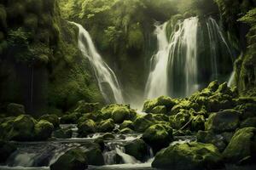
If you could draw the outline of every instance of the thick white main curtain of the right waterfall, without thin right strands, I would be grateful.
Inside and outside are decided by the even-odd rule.
[[[160,95],[188,96],[197,90],[198,17],[178,21],[170,39],[167,22],[156,26],[158,52],[151,59],[145,94],[147,99]]]

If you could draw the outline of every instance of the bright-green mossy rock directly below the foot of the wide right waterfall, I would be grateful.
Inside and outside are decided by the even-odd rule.
[[[167,111],[171,111],[172,107],[176,104],[177,104],[176,100],[174,100],[170,97],[160,96],[157,99],[146,100],[143,105],[143,111],[146,113],[151,113],[153,110],[156,111],[156,110],[160,109],[160,107],[155,108],[155,109],[154,109],[154,107],[161,105],[161,106],[166,107],[166,112],[167,112]],[[163,107],[161,109],[163,109]],[[160,112],[160,113],[162,113],[162,112]]]

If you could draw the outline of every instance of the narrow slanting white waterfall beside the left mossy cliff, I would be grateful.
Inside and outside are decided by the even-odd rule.
[[[84,57],[90,60],[104,99],[108,103],[124,103],[118,79],[107,63],[103,61],[102,56],[96,51],[89,32],[83,26],[74,22],[71,23],[79,27],[79,49]],[[109,94],[109,90],[112,94]]]

